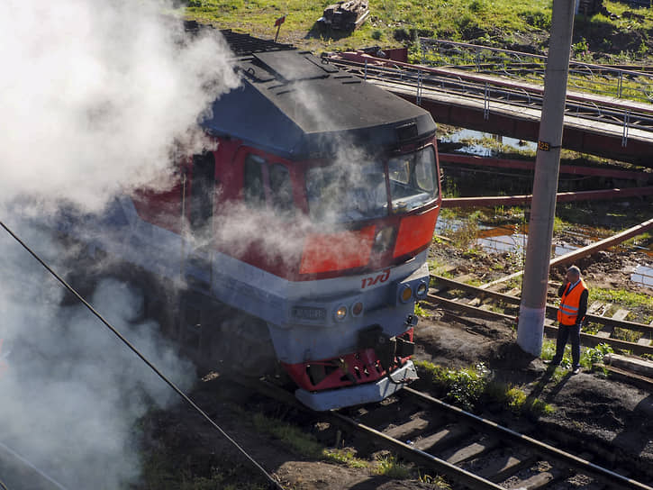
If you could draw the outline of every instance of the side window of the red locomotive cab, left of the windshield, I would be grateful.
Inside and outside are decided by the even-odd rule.
[[[249,154],[243,165],[243,201],[249,207],[269,208],[278,216],[290,218],[295,214],[293,185],[285,165],[268,163],[266,159]]]

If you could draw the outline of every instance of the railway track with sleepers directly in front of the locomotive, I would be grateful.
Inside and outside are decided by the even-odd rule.
[[[250,387],[308,410],[267,381]],[[321,422],[356,434],[361,445],[390,450],[427,474],[444,477],[454,489],[653,490],[653,476],[635,475],[633,468],[612,469],[598,452],[588,452],[591,449],[576,456],[412,388],[381,404],[314,414]]]

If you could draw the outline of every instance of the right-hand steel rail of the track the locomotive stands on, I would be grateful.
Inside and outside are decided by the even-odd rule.
[[[446,404],[441,400],[434,398],[430,395],[425,395],[419,391],[414,390],[410,387],[404,387],[404,393],[410,394],[414,397],[420,398],[431,405],[438,406],[441,410],[447,411],[449,413],[455,413],[458,417],[463,418],[466,422],[480,427],[485,431],[494,432],[494,434],[499,434],[500,436],[510,439],[514,442],[523,444],[529,449],[535,449],[540,455],[550,458],[555,458],[560,462],[567,463],[573,467],[579,468],[582,471],[587,471],[596,476],[610,480],[612,483],[627,485],[629,488],[639,488],[640,490],[653,490],[653,487],[640,483],[632,478],[622,476],[618,473],[615,473],[607,468],[600,467],[591,463],[583,458],[578,458],[576,455],[568,453],[558,448],[554,448],[549,444],[541,442],[540,440],[535,440],[527,435],[521,434],[517,431],[512,431],[503,425],[499,425],[496,422],[490,421],[483,417],[479,417],[474,413],[469,413],[457,406]]]

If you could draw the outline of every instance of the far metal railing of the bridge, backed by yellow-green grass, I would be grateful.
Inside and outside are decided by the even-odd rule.
[[[422,65],[474,70],[543,84],[546,56],[420,38]],[[653,104],[653,73],[569,61],[568,88]]]

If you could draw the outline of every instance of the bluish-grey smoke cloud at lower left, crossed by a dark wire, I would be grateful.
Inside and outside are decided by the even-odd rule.
[[[21,232],[34,242],[49,239]],[[136,481],[141,453],[134,422],[176,395],[85,307],[60,306],[62,288],[17,243],[2,236],[0,250],[0,442],[68,490]],[[53,251],[47,259],[56,264]],[[140,291],[105,279],[89,300],[175,383],[190,385],[193,367],[177,358],[154,322],[141,319]],[[12,480],[20,469],[28,481],[42,482],[4,450],[0,461],[9,468],[0,478],[10,488],[26,487]]]

